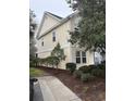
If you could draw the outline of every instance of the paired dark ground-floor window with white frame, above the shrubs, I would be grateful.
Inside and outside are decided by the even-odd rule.
[[[86,63],[86,52],[85,51],[76,51],[76,63]]]

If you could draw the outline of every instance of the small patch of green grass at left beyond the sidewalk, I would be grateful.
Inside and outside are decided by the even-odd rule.
[[[42,76],[44,74],[45,74],[45,72],[41,71],[41,70],[34,68],[34,67],[30,67],[30,68],[29,68],[29,76],[30,76],[30,77]]]

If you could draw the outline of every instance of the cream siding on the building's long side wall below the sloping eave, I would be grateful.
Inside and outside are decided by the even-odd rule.
[[[47,58],[50,55],[52,49],[59,42],[61,48],[64,50],[64,54],[66,55],[65,61],[62,61],[59,65],[59,68],[65,68],[65,63],[71,62],[71,52],[70,52],[70,39],[69,30],[71,28],[71,21],[64,23],[63,25],[59,26],[58,28],[53,29],[52,31],[45,35],[40,38],[38,43],[38,56],[39,58]],[[56,41],[52,41],[52,33],[56,31]],[[41,42],[44,41],[44,47]]]

